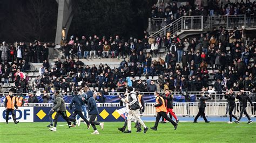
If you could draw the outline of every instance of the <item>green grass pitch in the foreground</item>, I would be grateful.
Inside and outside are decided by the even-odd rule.
[[[256,142],[256,123],[227,124],[224,122],[190,123],[180,122],[176,131],[169,123],[160,124],[157,131],[149,129],[146,134],[136,133],[132,128],[131,134],[117,130],[122,122],[105,122],[100,134],[91,134],[92,127],[86,125],[69,128],[64,122],[59,122],[57,132],[46,127],[49,123],[0,123],[0,142]],[[148,127],[153,122],[145,123]],[[134,127],[134,123],[132,123]]]

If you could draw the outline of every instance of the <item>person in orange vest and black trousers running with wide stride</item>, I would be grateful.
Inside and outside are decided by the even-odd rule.
[[[152,130],[157,131],[157,126],[159,123],[160,118],[163,116],[167,121],[170,121],[172,125],[174,126],[174,130],[177,129],[178,124],[175,123],[170,117],[167,116],[166,112],[166,106],[165,106],[165,101],[164,98],[160,96],[158,92],[155,92],[157,98],[156,98],[156,104],[154,107],[156,108],[157,111],[157,117],[156,117],[156,122],[154,123],[154,126],[151,127]]]

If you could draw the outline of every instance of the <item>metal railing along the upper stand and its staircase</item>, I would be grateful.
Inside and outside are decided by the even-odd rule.
[[[165,18],[149,18],[148,31],[152,37],[163,36],[167,33],[177,34],[181,30],[212,30],[213,27],[225,26],[230,30],[233,27],[245,26],[256,28],[256,17],[237,16],[183,16],[174,22],[165,25]],[[167,19],[168,21],[169,19]]]

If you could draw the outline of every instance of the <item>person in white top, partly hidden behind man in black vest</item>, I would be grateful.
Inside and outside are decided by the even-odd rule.
[[[128,111],[129,111],[129,103],[128,103],[129,99],[128,99],[128,96],[126,95],[126,93],[124,94],[124,96],[125,96],[125,98],[122,98],[121,96],[119,96],[119,99],[120,99],[120,101],[122,101],[123,106],[126,107],[126,113],[125,113],[125,115],[126,115],[126,114],[128,114]],[[118,130],[121,131],[121,132],[124,132],[125,128],[127,126],[127,118],[124,117],[124,119],[125,119],[124,120],[124,126],[118,128]],[[141,132],[142,128],[140,128],[139,122],[136,119],[134,119],[134,117],[132,118],[132,121],[134,121],[136,123],[136,126],[137,126],[137,131],[136,132]]]

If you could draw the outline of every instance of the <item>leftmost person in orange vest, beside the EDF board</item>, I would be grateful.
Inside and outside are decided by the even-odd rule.
[[[16,116],[14,113],[14,107],[18,110],[18,106],[16,102],[16,97],[14,96],[14,93],[12,91],[9,91],[9,95],[5,97],[4,106],[6,109],[6,117],[5,117],[6,124],[8,124],[10,112],[12,115],[12,119],[14,119],[14,124],[18,124],[19,121],[16,121]]]

